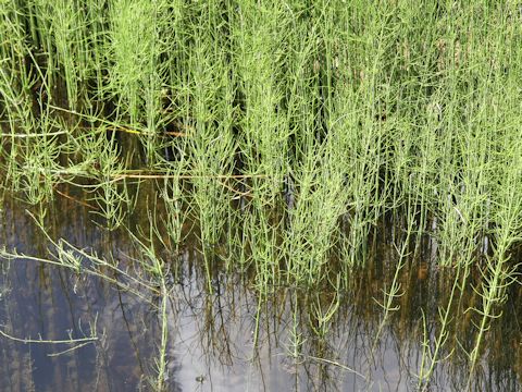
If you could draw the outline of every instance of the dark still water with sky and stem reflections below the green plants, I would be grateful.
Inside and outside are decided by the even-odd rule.
[[[23,207],[13,201],[5,201],[3,207],[3,244],[18,253],[48,257],[49,243]],[[140,254],[125,232],[105,233],[72,200],[57,203],[54,208],[51,236],[63,237],[99,257],[114,258],[122,268],[140,273],[133,261]],[[386,260],[394,257],[393,252],[383,243],[375,257]],[[430,257],[430,250],[426,254]],[[214,290],[209,294],[204,268],[194,246],[187,245],[171,261],[177,267],[172,268],[176,278],[170,282],[167,303],[165,383],[170,391],[417,390],[422,342],[426,333],[428,344],[434,341],[437,308],[447,301],[451,284],[444,271],[430,271],[430,279],[424,279],[422,265],[406,268],[400,281],[408,290],[399,298],[399,310],[384,327],[382,339],[375,342],[382,313],[373,298],[380,299],[389,284],[393,262],[355,274],[352,290],[339,294],[337,313],[322,324],[318,309],[324,314],[335,302],[335,293],[281,287],[260,302],[248,282],[216,271]],[[78,347],[24,344],[2,338],[2,390],[153,389],[161,341],[153,294],[144,292],[150,302],[144,301],[107,280],[34,260],[5,260],[1,268],[3,331],[33,340],[82,339],[91,331],[98,338]],[[515,391],[521,387],[521,293],[512,291],[512,301],[505,308],[508,317],[488,332],[487,356],[476,375],[476,390]],[[473,292],[465,293],[456,306],[465,309],[476,301]],[[472,345],[472,334],[467,333],[472,317],[470,314],[452,324],[444,355]],[[451,360],[439,363],[427,390],[462,390],[467,377],[465,358],[453,355]]]

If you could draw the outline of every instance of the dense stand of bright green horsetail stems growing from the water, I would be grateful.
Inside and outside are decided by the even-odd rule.
[[[380,222],[397,271],[428,235],[455,285],[420,379],[480,267],[473,368],[522,230],[521,38],[511,0],[0,0],[2,185],[41,219],[84,187],[116,228],[156,180],[154,235],[197,221],[210,290],[215,255],[263,295],[340,290]]]

